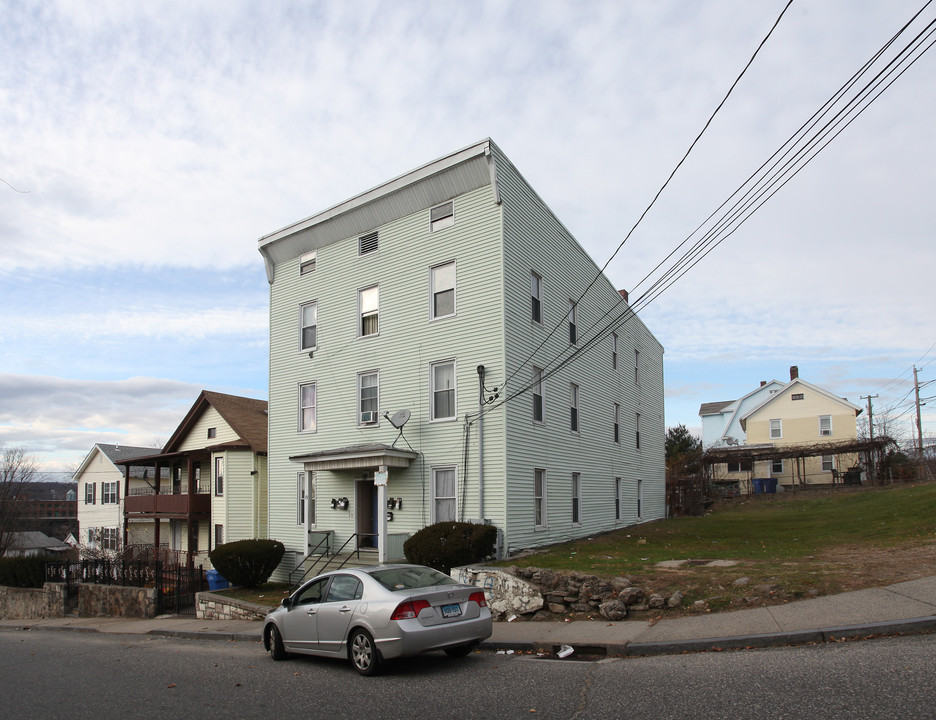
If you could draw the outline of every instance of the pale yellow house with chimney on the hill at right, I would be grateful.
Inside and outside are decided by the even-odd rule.
[[[791,372],[792,379],[742,418],[748,446],[821,446],[854,441],[861,408]],[[781,485],[824,485],[858,464],[855,454],[816,454],[757,460],[753,477],[776,478]]]

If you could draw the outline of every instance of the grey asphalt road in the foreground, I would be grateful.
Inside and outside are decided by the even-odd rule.
[[[364,678],[253,643],[0,631],[6,718],[934,718],[936,635],[598,661],[424,655]]]

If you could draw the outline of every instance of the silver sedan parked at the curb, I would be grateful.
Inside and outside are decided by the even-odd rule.
[[[302,585],[264,621],[263,646],[347,657],[362,675],[384,660],[429,650],[467,655],[491,636],[484,591],[422,565],[334,570]]]

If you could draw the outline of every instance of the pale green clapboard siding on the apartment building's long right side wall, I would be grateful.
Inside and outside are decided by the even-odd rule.
[[[569,301],[578,300],[598,268],[549,208],[499,152],[495,154],[504,205],[505,343],[512,381],[509,394],[526,387],[532,365],[549,369],[569,357]],[[543,323],[531,320],[530,274],[543,279]],[[601,318],[611,310],[608,319]],[[662,517],[663,461],[662,347],[630,313],[602,276],[577,306],[579,346],[598,323],[621,315],[618,369],[611,368],[610,335],[548,377],[542,424],[533,422],[532,394],[506,408],[510,458],[505,487],[510,549],[572,537]],[[550,336],[550,332],[560,327]],[[536,349],[542,344],[542,347]],[[640,383],[634,382],[633,351],[640,350]],[[532,355],[532,358],[531,358]],[[570,429],[570,386],[579,386],[580,431]],[[613,442],[614,403],[620,406],[620,442]],[[641,448],[635,447],[636,415],[641,415]],[[547,526],[535,528],[534,470],[547,471]],[[572,476],[581,475],[580,524],[572,524]],[[621,478],[621,519],[614,518],[615,478]],[[638,519],[637,481],[642,479]]]

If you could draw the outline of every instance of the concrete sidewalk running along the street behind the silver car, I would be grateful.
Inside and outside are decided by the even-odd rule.
[[[0,620],[0,629],[163,635],[259,642],[257,620],[198,620],[175,615],[153,619],[48,618]],[[771,607],[691,615],[652,622],[497,622],[483,644],[497,650],[578,654],[658,655],[715,648],[767,647],[876,634],[936,630],[936,576]]]

